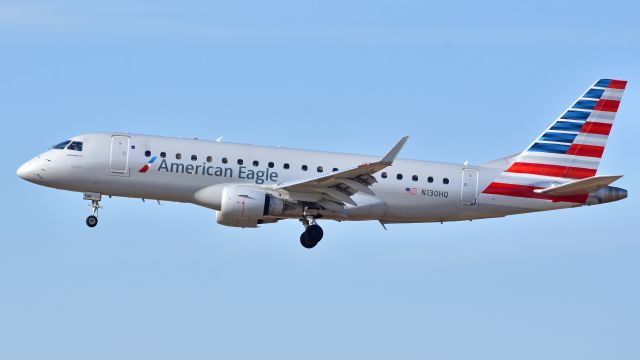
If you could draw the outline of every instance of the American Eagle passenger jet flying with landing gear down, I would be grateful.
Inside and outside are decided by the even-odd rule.
[[[627,82],[600,79],[522,152],[481,165],[199,139],[89,133],[27,161],[17,175],[81,192],[98,224],[107,195],[192,203],[218,224],[255,228],[284,219],[304,226],[300,243],[323,238],[318,220],[386,224],[497,218],[597,205],[627,197],[596,175]],[[385,227],[386,229],[386,227]]]

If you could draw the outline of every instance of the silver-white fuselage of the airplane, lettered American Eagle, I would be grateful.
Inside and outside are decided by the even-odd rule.
[[[114,145],[114,136],[121,140],[120,145]],[[48,150],[23,165],[20,176],[58,189],[187,202],[220,210],[222,189],[231,184],[268,188],[378,159],[132,134],[92,133],[71,140],[82,141],[83,150]],[[148,164],[148,170],[140,172],[154,156],[157,158]],[[357,206],[347,205],[346,217],[324,217],[384,223],[439,222],[581,205],[482,194],[502,170],[397,159],[374,174],[377,183],[371,190],[375,196],[355,194]]]

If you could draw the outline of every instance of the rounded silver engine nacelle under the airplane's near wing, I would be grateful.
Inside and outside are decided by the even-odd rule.
[[[264,189],[231,185],[222,189],[216,222],[226,226],[257,227],[259,223],[275,221],[273,218],[265,220],[265,217],[281,215],[283,209],[284,202]]]

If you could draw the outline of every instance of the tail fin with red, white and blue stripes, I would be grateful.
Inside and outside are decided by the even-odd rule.
[[[533,189],[545,181],[564,183],[594,176],[626,85],[624,80],[598,80],[526,150],[512,158],[484,192],[519,196],[513,192],[520,192],[523,186]],[[532,189],[524,193],[530,194]]]

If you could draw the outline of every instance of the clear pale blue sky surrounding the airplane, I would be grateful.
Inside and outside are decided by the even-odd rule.
[[[0,358],[637,359],[640,26],[632,1],[3,1]],[[625,201],[463,223],[295,221],[103,202],[15,175],[128,131],[481,163],[599,78]]]

